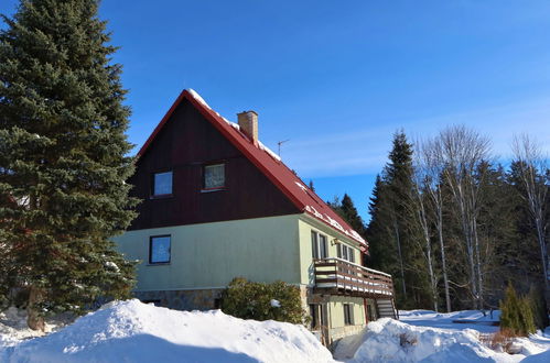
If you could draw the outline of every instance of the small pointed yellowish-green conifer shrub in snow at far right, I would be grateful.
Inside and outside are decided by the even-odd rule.
[[[500,301],[500,330],[516,337],[527,337],[536,331],[531,304],[528,297],[519,297],[508,284],[504,300]]]

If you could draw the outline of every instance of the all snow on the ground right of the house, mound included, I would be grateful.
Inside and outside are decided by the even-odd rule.
[[[438,314],[428,310],[400,311],[401,321],[379,319],[360,334],[344,339],[335,358],[355,362],[550,362],[550,328],[514,340],[519,354],[489,349],[479,341],[494,333],[499,311]],[[461,323],[453,322],[461,321]]]

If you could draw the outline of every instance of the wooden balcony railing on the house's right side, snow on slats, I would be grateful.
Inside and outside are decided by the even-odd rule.
[[[334,295],[393,298],[391,275],[342,258],[314,260],[315,289]]]

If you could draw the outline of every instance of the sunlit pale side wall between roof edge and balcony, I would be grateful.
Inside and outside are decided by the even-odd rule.
[[[355,250],[355,261],[360,264],[360,251],[359,245],[354,240],[337,233],[334,229],[327,224],[310,217],[308,215],[301,215],[299,220],[299,233],[300,233],[300,282],[305,285],[313,285],[315,276],[313,275],[313,257],[312,257],[312,244],[311,244],[311,231],[316,231],[319,233],[325,234],[327,237],[328,245],[328,257],[337,257],[337,248],[335,240],[347,244]]]

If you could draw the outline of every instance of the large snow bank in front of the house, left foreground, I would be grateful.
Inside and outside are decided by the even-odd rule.
[[[44,338],[6,342],[1,362],[332,362],[305,328],[219,310],[111,304]]]

